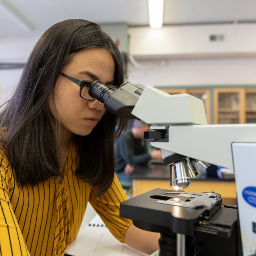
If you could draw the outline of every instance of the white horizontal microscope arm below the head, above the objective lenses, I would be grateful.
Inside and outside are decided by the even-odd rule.
[[[151,129],[161,128],[152,126]],[[175,152],[226,167],[233,172],[232,143],[256,141],[255,125],[251,124],[177,125],[166,129],[168,142],[151,142],[152,146],[161,148],[163,158]]]

